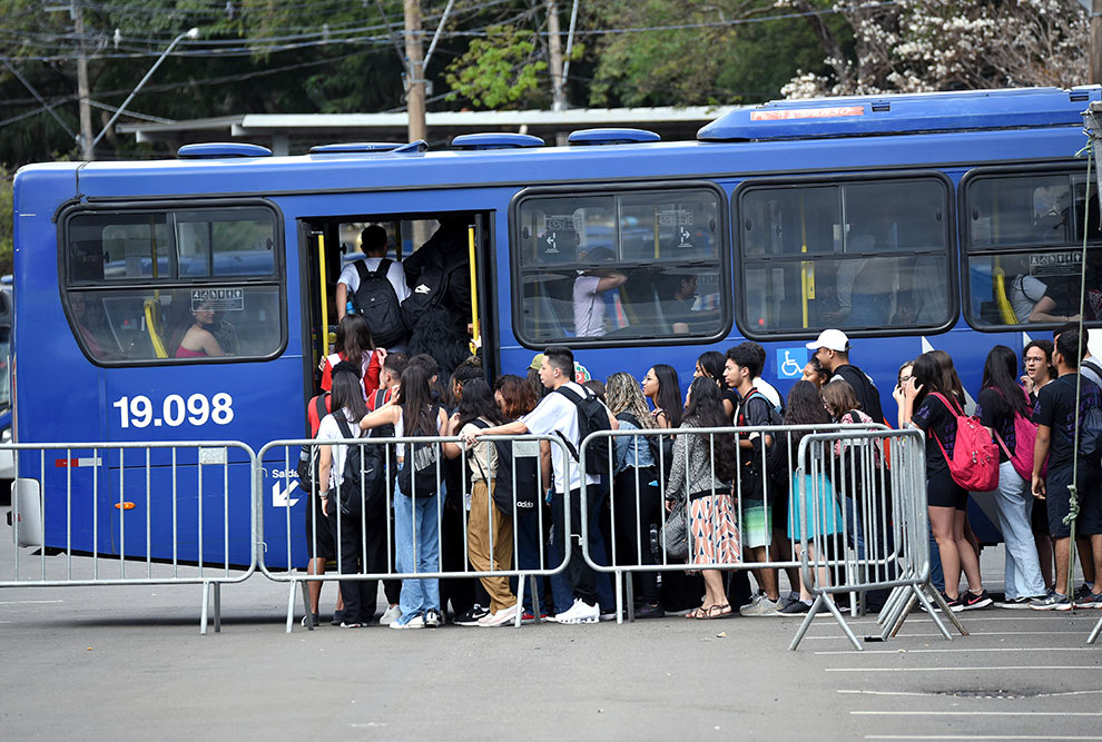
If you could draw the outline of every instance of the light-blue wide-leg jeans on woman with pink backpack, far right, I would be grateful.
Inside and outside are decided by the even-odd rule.
[[[998,488],[992,494],[997,507],[998,530],[1006,546],[1006,600],[1045,594],[1041,562],[1030,526],[1034,498],[1027,489],[1029,484],[1011,462],[998,465]]]

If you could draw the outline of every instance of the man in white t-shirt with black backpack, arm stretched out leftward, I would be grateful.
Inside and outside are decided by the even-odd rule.
[[[551,346],[543,352],[540,366],[540,380],[552,392],[544,395],[540,404],[531,413],[513,423],[481,431],[472,431],[468,445],[481,435],[553,435],[562,437],[577,451],[581,443],[578,426],[578,407],[565,395],[559,394],[560,388],[569,388],[574,394],[586,397],[588,389],[573,382],[574,354],[565,346]],[[614,427],[614,418],[609,415]],[[589,501],[597,502],[594,496],[600,479],[592,474],[581,471],[573,459],[568,461],[563,446],[551,446],[551,469],[554,475],[554,497],[551,501],[554,521],[555,538],[564,533],[564,501],[569,493],[570,501],[570,564],[567,565],[567,581],[574,593],[574,603],[565,612],[555,616],[559,623],[597,623],[600,620],[600,609],[597,605],[597,573],[586,563],[581,547],[581,477],[586,477]],[[593,509],[592,507],[590,509]],[[590,521],[596,525],[596,521]]]

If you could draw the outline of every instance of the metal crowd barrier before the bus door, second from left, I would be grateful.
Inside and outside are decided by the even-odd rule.
[[[273,465],[272,468],[276,473],[272,478],[273,492],[282,489],[284,493],[291,493],[285,497],[285,507],[275,508],[276,511],[283,509],[282,514],[276,514],[275,517],[267,517],[265,509],[260,509],[259,524],[257,526],[258,533],[260,535],[260,541],[258,542],[258,565],[259,571],[276,582],[289,583],[288,597],[287,597],[287,624],[286,630],[289,633],[294,626],[294,611],[295,611],[295,594],[301,591],[303,604],[307,616],[311,616],[309,610],[309,595],[308,595],[308,583],[311,582],[341,582],[341,581],[387,581],[387,580],[447,580],[457,577],[514,577],[516,578],[516,604],[518,612],[515,619],[515,625],[521,624],[521,613],[523,612],[524,603],[524,590],[525,582],[530,582],[532,590],[532,603],[533,613],[535,614],[535,620],[539,621],[540,616],[540,604],[538,602],[538,593],[535,591],[535,578],[542,576],[550,576],[562,572],[569,561],[570,561],[570,550],[563,550],[561,558],[548,553],[548,545],[545,535],[548,533],[547,517],[543,511],[543,493],[544,488],[540,482],[539,475],[534,482],[534,486],[529,488],[523,482],[518,481],[518,459],[528,455],[529,457],[537,457],[537,472],[539,471],[539,451],[541,444],[547,444],[552,448],[552,455],[560,455],[565,457],[567,466],[572,466],[572,459],[570,458],[569,451],[561,438],[555,436],[535,436],[535,435],[523,435],[523,436],[482,436],[474,444],[475,446],[481,445],[482,442],[505,442],[512,446],[512,467],[509,472],[499,472],[498,478],[501,476],[509,476],[511,479],[511,488],[513,491],[514,497],[512,501],[512,513],[508,513],[511,517],[508,518],[511,526],[511,534],[506,534],[512,543],[510,546],[509,555],[509,567],[508,568],[491,568],[491,570],[475,570],[471,566],[469,555],[470,555],[470,544],[469,544],[469,525],[470,525],[470,512],[468,507],[470,506],[471,497],[471,467],[468,463],[466,456],[466,445],[459,437],[445,437],[445,436],[417,436],[417,437],[364,437],[364,438],[352,438],[352,439],[340,439],[333,442],[321,442],[317,439],[287,439],[287,441],[274,441],[266,444],[258,453],[257,461],[259,465],[257,467],[257,482],[256,487],[258,491],[264,491],[267,483],[264,478],[268,476],[268,466]],[[429,547],[433,550],[434,557],[437,560],[436,570],[422,571],[417,570],[417,533],[420,524],[417,521],[416,508],[412,508],[412,546],[413,550],[413,570],[401,571],[396,566],[396,551],[399,547],[405,545],[404,540],[396,532],[393,522],[394,505],[395,505],[395,477],[397,475],[399,465],[396,456],[396,444],[412,445],[414,443],[419,444],[430,444],[435,452],[435,464],[434,476],[436,482],[444,482],[441,485],[441,491],[432,497],[431,507],[434,509],[434,522],[436,528],[435,543],[430,544]],[[459,469],[456,477],[453,478],[453,483],[457,481],[460,483],[459,492],[447,492],[446,491],[446,476],[445,476],[445,464],[446,457],[443,451],[444,444],[456,444],[460,448],[459,456],[454,459],[454,466]],[[382,448],[378,452],[377,458],[374,461],[383,468],[382,484],[377,492],[374,493],[374,497],[370,495],[368,492],[368,478],[363,476],[368,464],[368,457],[361,455],[361,493],[360,499],[365,503],[365,506],[360,509],[358,513],[350,515],[342,513],[341,507],[334,505],[334,494],[331,493],[328,499],[329,517],[328,521],[322,517],[321,513],[321,498],[317,496],[317,477],[316,471],[309,468],[312,485],[308,491],[304,491],[298,487],[298,474],[297,466],[299,457],[309,454],[311,449],[317,446],[328,446],[328,445],[351,445],[361,446],[366,453],[368,448]],[[533,453],[534,451],[534,453]],[[304,454],[305,452],[305,454]],[[313,467],[316,464],[313,463],[314,457],[308,456],[307,461],[312,462],[308,466]],[[500,462],[499,462],[500,463]],[[416,482],[414,482],[416,486]],[[415,493],[414,493],[415,494]],[[462,520],[462,533],[463,533],[463,568],[461,570],[444,570],[442,564],[442,555],[445,551],[444,533],[440,528],[440,524],[443,521],[444,509],[445,509],[445,497],[451,501],[451,503],[457,504],[461,520]],[[305,499],[304,508],[295,508],[294,505],[299,501]],[[415,497],[416,499],[416,497]],[[534,502],[534,512],[523,512],[518,506],[518,501]],[[502,526],[495,525],[495,518],[493,517],[494,508],[496,505],[492,497],[486,498],[486,523],[489,524],[489,540],[490,540],[490,552],[493,554],[495,552],[494,546],[498,544],[498,540],[502,537],[500,533]],[[309,518],[309,528],[307,530],[307,517]],[[424,521],[424,515],[421,516],[422,522]],[[351,520],[351,521],[350,521]],[[324,528],[325,524],[328,523],[331,527],[331,534],[337,536],[340,534],[352,534],[355,541],[358,542],[354,550],[340,547],[340,538],[336,538],[334,543],[336,554],[333,561],[337,563],[336,573],[324,573],[324,574],[304,574],[294,568],[294,564],[301,562],[298,558],[302,553],[305,553],[306,546],[309,545],[309,550],[313,554],[318,554],[318,548],[322,545],[325,535],[319,532],[319,528]],[[518,527],[521,526],[521,527]],[[429,526],[433,526],[430,524]],[[569,532],[570,530],[570,509],[565,508],[563,530]],[[527,537],[525,537],[527,536]],[[307,544],[307,541],[309,544]],[[562,544],[565,540],[559,538],[557,543]],[[433,558],[430,555],[430,558]],[[352,564],[347,564],[348,561]],[[494,557],[491,561],[491,566],[496,567],[498,558]],[[373,603],[374,605],[374,603]],[[442,606],[441,606],[442,607]],[[306,620],[307,627],[313,631],[313,620]]]

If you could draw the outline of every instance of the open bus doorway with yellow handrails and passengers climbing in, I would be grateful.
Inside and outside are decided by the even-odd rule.
[[[329,217],[303,222],[304,321],[307,395],[317,393],[325,356],[336,354],[337,329],[350,311],[367,320],[373,344],[407,356],[432,355],[442,376],[481,348],[483,367],[495,368],[493,313],[494,266],[489,212],[437,212]],[[396,337],[386,325],[387,309],[360,306],[361,276],[391,260],[385,277],[394,289],[404,325]],[[356,266],[362,263],[362,268]],[[377,286],[377,284],[376,284]],[[370,287],[368,287],[370,288]],[[388,299],[384,299],[388,300]],[[382,327],[381,327],[382,325]],[[380,333],[385,333],[381,335]]]

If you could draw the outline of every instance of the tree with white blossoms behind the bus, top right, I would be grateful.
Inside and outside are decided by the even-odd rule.
[[[821,21],[823,4],[777,6],[805,13],[833,70],[798,72],[781,88],[787,98],[1088,81],[1090,22],[1078,0],[835,2],[852,42]]]

